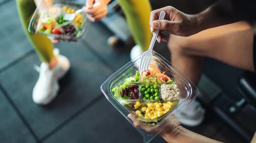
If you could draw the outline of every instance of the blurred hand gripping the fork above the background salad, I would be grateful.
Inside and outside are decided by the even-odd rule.
[[[100,5],[93,8],[93,4],[97,2],[99,2]],[[97,22],[107,15],[107,5],[109,2],[110,0],[87,0],[85,6],[88,9],[86,9],[86,7],[83,7],[82,10],[91,22]]]

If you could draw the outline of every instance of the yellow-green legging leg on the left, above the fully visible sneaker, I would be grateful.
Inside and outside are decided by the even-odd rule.
[[[53,43],[46,36],[28,32],[30,19],[36,9],[33,0],[16,0],[17,10],[23,30],[42,62],[53,58]]]

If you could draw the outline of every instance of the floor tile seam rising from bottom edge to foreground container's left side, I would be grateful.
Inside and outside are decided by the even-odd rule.
[[[67,125],[68,123],[70,123],[73,119],[75,119],[76,117],[78,117],[80,114],[82,114],[84,111],[86,111],[87,109],[90,109],[91,106],[93,106],[94,104],[96,104],[101,98],[103,98],[105,96],[103,96],[103,94],[100,94],[97,98],[95,98],[93,101],[91,101],[90,103],[86,104],[84,107],[82,107],[81,109],[79,109],[78,111],[76,111],[72,116],[70,116],[68,119],[66,119],[65,121],[63,121],[60,125],[58,125],[56,128],[54,128],[52,131],[50,131],[47,135],[43,136],[39,141],[43,142],[45,141],[47,138],[49,138],[50,136],[53,136],[56,132],[58,132],[59,130],[61,130],[61,128],[63,128],[65,125]]]

